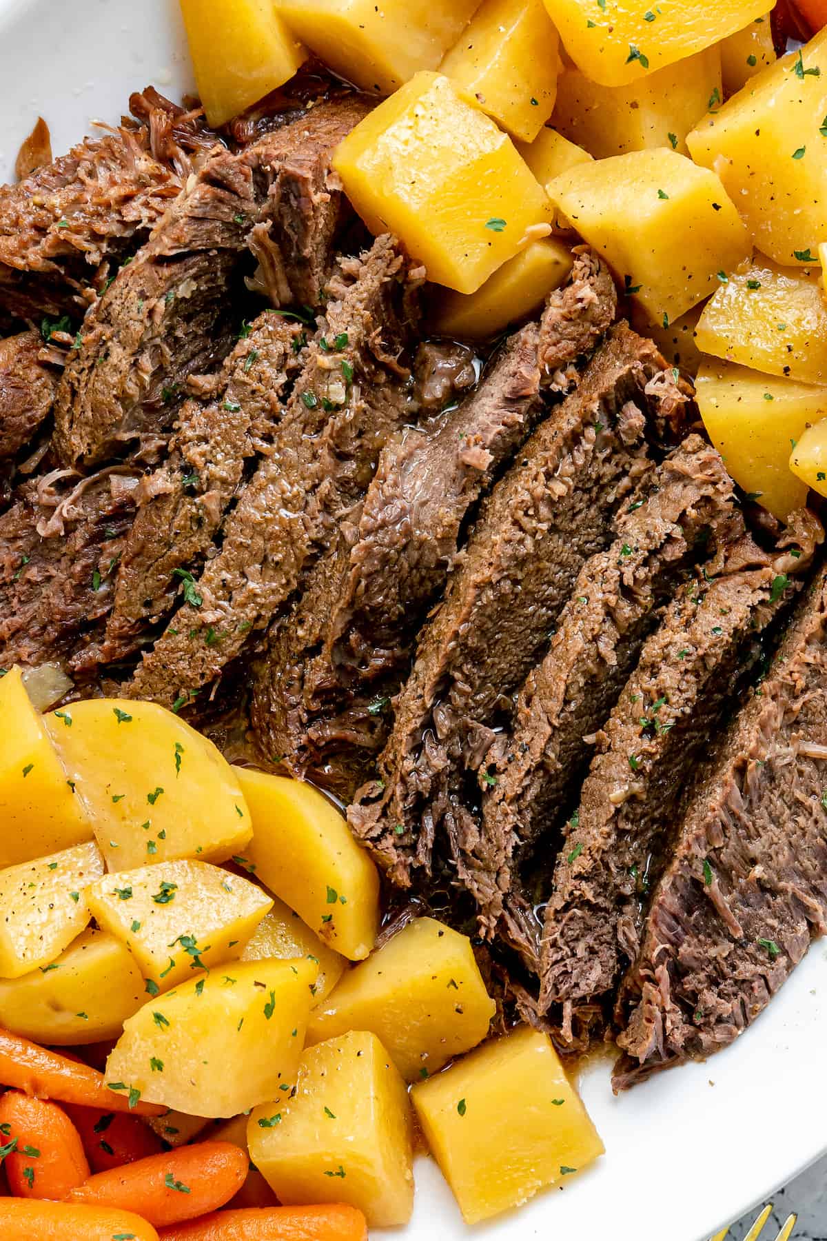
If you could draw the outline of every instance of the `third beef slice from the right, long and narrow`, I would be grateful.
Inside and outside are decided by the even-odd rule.
[[[698,558],[744,532],[732,479],[699,436],[651,470],[615,529],[613,546],[583,566],[548,654],[520,691],[513,728],[481,768],[484,922],[491,936],[505,915],[508,938],[534,968],[539,928],[518,867],[541,836],[543,849],[554,841],[593,755],[586,738],[609,716],[658,609]]]

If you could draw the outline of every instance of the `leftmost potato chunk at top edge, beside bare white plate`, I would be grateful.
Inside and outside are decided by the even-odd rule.
[[[307,58],[273,0],[181,0],[181,12],[211,125],[283,86]]]

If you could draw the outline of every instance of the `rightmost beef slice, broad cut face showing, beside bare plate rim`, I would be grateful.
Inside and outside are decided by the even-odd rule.
[[[827,933],[827,570],[689,797],[624,980],[624,1090],[733,1042]]]

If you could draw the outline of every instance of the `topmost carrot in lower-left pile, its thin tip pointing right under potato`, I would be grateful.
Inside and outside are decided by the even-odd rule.
[[[128,1085],[118,1082],[120,1088],[112,1090],[97,1069],[68,1060],[56,1051],[47,1051],[46,1047],[2,1029],[0,1083],[38,1098],[103,1107],[109,1112],[133,1112],[135,1116],[164,1116],[166,1112],[165,1107],[156,1103],[141,1103]]]

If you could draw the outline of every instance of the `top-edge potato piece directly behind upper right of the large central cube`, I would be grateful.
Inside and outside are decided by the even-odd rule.
[[[529,143],[554,108],[559,43],[543,0],[484,0],[439,71]]]

